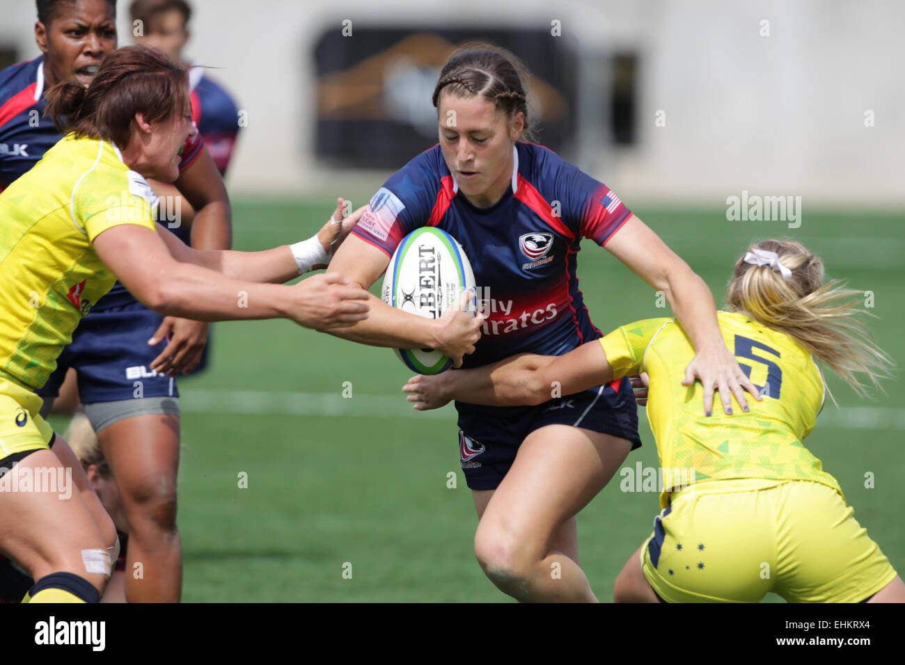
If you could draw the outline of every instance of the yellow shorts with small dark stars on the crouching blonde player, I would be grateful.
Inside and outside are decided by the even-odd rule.
[[[654,518],[642,570],[667,603],[860,603],[896,572],[853,514],[810,480],[703,481]]]

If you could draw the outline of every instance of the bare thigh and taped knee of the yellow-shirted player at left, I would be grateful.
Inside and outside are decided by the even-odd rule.
[[[53,451],[34,451],[0,479],[0,546],[35,580],[52,573],[69,573],[87,580],[102,594],[108,575],[89,572],[89,566],[92,570],[96,567],[97,557],[90,556],[86,563],[83,552],[97,553],[111,545],[101,537],[100,528],[112,527],[112,520],[104,513],[110,524],[99,528],[81,491],[71,486],[43,488],[48,491],[13,490],[11,483],[17,481],[19,473],[28,472],[36,480],[46,478],[51,469],[59,474],[60,458]]]

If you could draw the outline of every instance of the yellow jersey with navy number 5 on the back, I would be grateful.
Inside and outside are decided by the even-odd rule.
[[[681,385],[694,347],[674,318],[630,323],[600,340],[616,378],[645,371],[650,376],[647,417],[664,470],[662,508],[669,506],[672,489],[700,480],[814,480],[842,494],[802,445],[824,400],[810,353],[743,314],[717,316],[726,346],[765,395],[761,402],[748,395],[749,413],[733,397],[734,415],[726,415],[717,393],[708,417],[703,386]]]

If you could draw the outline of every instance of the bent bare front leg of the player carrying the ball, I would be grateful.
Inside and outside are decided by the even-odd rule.
[[[568,425],[529,434],[474,537],[478,562],[500,591],[523,602],[596,602],[576,547],[560,531],[604,488],[631,447]]]

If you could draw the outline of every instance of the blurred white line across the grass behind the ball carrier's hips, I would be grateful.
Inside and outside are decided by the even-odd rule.
[[[415,411],[401,390],[392,394],[353,394],[344,398],[333,393],[270,392],[256,390],[182,391],[184,413],[273,413],[278,415],[344,415],[367,418],[430,418],[455,422],[452,404],[433,411]],[[816,431],[825,427],[848,430],[905,430],[905,409],[881,406],[832,404],[817,417]]]

